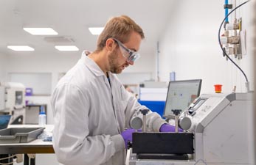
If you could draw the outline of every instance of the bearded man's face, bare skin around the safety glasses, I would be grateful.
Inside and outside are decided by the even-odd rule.
[[[131,49],[131,51],[138,51],[139,45],[141,42],[141,37],[138,33],[133,32],[131,34],[130,40],[127,43],[122,43],[126,48]],[[111,73],[122,73],[122,70],[129,65],[134,65],[133,61],[128,61],[128,58],[124,56],[123,50],[121,50],[121,46],[117,44],[117,47],[114,51],[111,52],[108,56],[108,62]]]

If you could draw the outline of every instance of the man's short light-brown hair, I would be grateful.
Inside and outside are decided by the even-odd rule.
[[[102,51],[108,38],[116,38],[126,43],[132,32],[137,32],[142,39],[145,38],[142,28],[126,15],[111,18],[97,40],[97,50]]]

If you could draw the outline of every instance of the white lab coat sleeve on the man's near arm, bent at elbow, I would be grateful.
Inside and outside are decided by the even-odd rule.
[[[53,147],[61,164],[103,164],[125,148],[121,135],[89,136],[89,103],[72,84],[59,85],[53,93]]]

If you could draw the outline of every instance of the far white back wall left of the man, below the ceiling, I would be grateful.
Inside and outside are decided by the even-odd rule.
[[[14,56],[10,54],[7,65],[7,73],[52,73],[52,87],[58,81],[58,74],[65,73],[71,68],[80,54],[21,54]],[[53,89],[53,88],[52,88]]]

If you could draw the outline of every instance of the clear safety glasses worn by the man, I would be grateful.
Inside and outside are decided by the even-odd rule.
[[[140,55],[136,51],[131,51],[131,49],[126,48],[120,40],[113,38],[115,42],[117,42],[118,46],[120,47],[120,51],[122,52],[122,56],[127,58],[128,62],[135,62],[136,59],[139,59]]]

